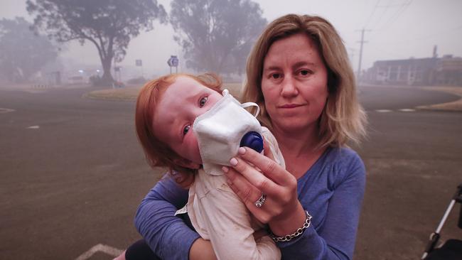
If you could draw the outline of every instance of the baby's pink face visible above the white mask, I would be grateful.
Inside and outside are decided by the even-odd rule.
[[[221,98],[221,94],[190,77],[178,77],[163,92],[156,106],[153,122],[156,137],[179,156],[202,164],[193,122]]]

